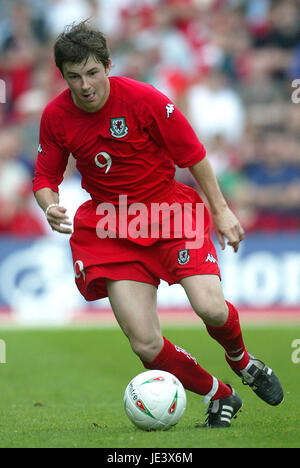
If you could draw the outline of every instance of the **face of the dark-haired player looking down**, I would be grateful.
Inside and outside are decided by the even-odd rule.
[[[109,63],[109,66],[104,68],[104,65],[93,57],[79,64],[64,63],[64,78],[78,107],[86,112],[96,112],[104,106],[110,91],[110,66]]]

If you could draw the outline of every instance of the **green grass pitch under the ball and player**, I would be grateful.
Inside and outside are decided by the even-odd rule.
[[[0,365],[1,448],[229,448],[300,446],[300,363],[292,342],[300,326],[244,329],[250,352],[280,376],[284,402],[271,407],[230,370],[222,348],[202,328],[163,329],[178,346],[243,399],[229,429],[207,430],[205,407],[187,392],[187,409],[166,432],[143,432],[127,419],[123,394],[143,372],[118,329],[6,330],[7,363]]]

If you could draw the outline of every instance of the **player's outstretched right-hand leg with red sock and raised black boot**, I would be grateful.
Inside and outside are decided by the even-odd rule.
[[[181,280],[194,311],[207,331],[225,349],[226,360],[237,375],[270,405],[283,400],[283,391],[272,369],[248,354],[236,308],[225,301],[219,277],[195,275]]]

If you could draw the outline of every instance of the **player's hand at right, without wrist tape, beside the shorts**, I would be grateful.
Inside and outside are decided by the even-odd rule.
[[[214,215],[215,230],[222,250],[225,249],[226,241],[235,252],[239,249],[240,242],[245,237],[244,229],[232,211],[227,207]]]

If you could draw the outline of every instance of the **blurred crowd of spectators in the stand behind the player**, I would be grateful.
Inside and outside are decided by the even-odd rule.
[[[48,232],[31,180],[41,113],[66,87],[53,41],[87,18],[112,74],[187,116],[245,230],[299,231],[300,0],[0,0],[0,235]],[[79,190],[72,159],[68,182]]]

